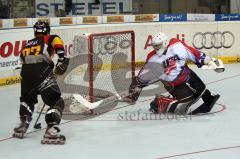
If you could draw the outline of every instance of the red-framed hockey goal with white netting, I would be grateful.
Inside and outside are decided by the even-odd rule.
[[[133,31],[75,36],[67,72],[57,78],[66,104],[63,114],[82,113],[74,94],[95,103],[127,91],[135,76],[134,51]]]

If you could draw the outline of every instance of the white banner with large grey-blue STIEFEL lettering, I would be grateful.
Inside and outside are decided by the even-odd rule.
[[[72,0],[66,4],[65,0],[36,0],[36,17],[58,16],[58,11],[66,15],[113,15],[132,14],[132,0]]]

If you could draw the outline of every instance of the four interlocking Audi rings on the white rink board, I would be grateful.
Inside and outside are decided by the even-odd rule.
[[[193,36],[192,45],[196,49],[230,48],[235,42],[235,37],[230,31],[198,32]]]

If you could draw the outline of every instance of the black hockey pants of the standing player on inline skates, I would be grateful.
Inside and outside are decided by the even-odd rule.
[[[45,116],[46,123],[59,124],[64,109],[64,101],[53,73],[50,73],[40,84],[32,82],[31,78],[22,78],[19,110],[21,120],[26,120],[32,116],[34,105],[38,102],[38,95],[41,95],[43,102],[50,106]]]

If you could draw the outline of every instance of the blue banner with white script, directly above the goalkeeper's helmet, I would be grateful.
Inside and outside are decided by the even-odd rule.
[[[179,22],[187,21],[187,14],[160,14],[160,22]]]

